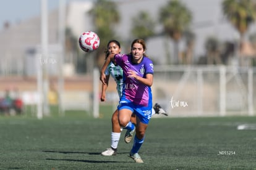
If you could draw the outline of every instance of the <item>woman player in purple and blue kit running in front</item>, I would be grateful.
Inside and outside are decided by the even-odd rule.
[[[130,54],[109,54],[101,68],[100,80],[106,84],[105,70],[111,61],[123,70],[122,96],[119,100],[119,125],[128,131],[134,131],[135,125],[130,121],[132,113],[137,116],[134,145],[130,158],[136,163],[143,163],[139,149],[143,144],[145,131],[152,115],[153,62],[145,55],[145,42],[135,39]]]

